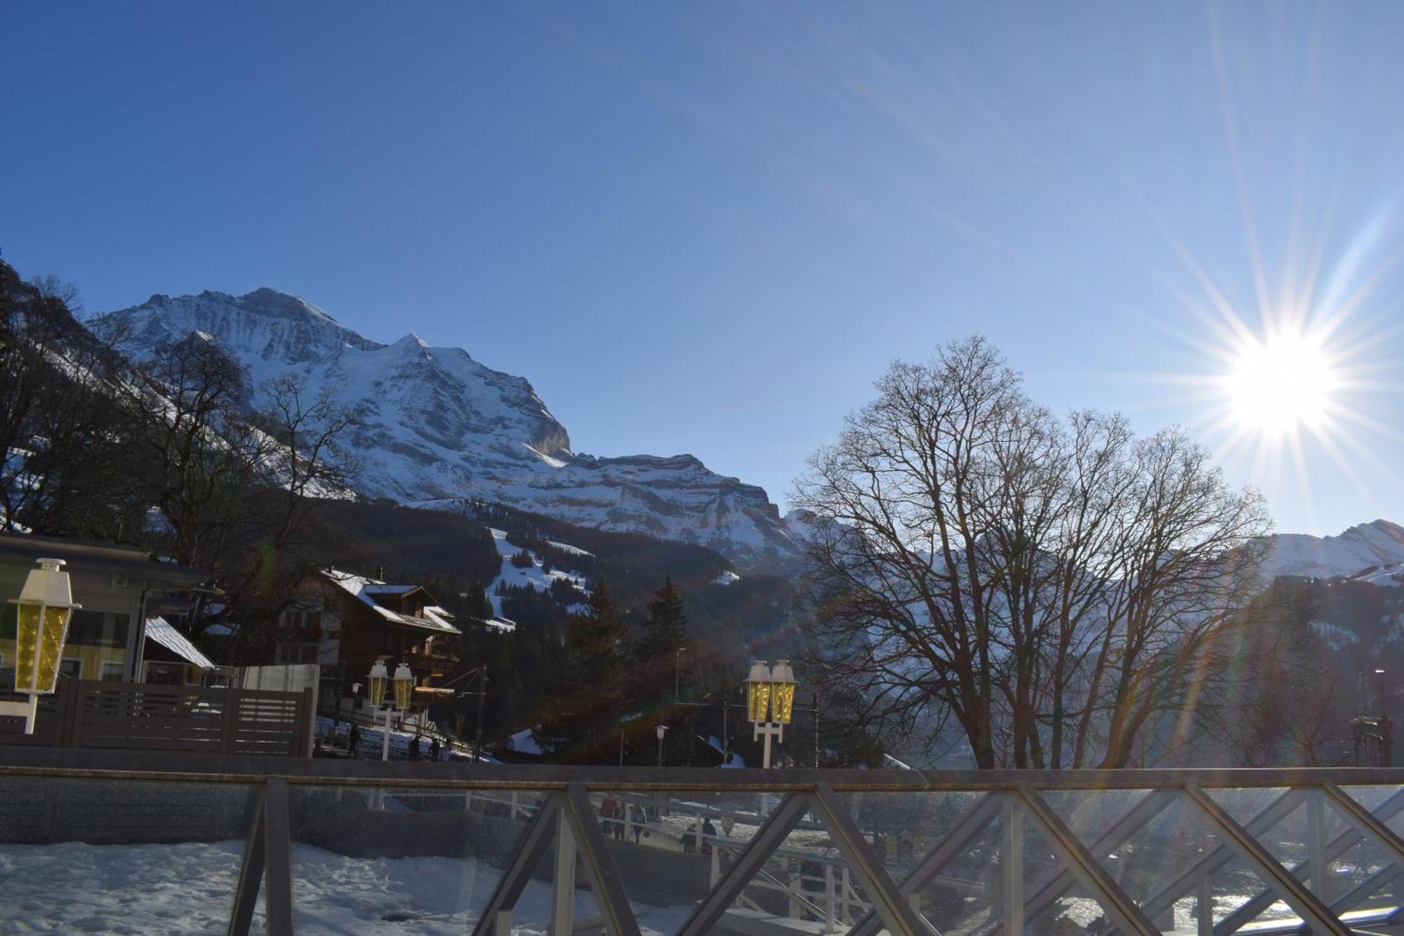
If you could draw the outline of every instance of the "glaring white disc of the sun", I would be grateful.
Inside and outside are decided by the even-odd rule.
[[[1293,327],[1244,336],[1226,382],[1234,422],[1266,437],[1321,430],[1341,384],[1324,342]]]

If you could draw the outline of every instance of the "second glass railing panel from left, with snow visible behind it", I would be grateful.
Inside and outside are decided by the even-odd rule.
[[[347,935],[469,932],[542,804],[424,787],[293,786],[288,797],[293,928]],[[550,878],[534,878],[518,915],[546,906],[545,919],[549,901]]]

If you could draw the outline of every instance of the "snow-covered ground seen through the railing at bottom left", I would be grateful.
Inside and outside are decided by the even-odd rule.
[[[243,842],[183,845],[0,845],[0,935],[223,933]],[[462,936],[497,887],[486,862],[452,857],[347,857],[293,845],[293,923],[299,933]],[[691,905],[636,905],[646,936],[677,932]],[[576,891],[576,919],[597,916]],[[512,933],[541,936],[550,885],[532,880],[512,914]],[[253,932],[264,932],[263,906]]]

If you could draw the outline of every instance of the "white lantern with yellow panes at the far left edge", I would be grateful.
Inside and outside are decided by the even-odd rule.
[[[39,711],[39,696],[53,693],[59,677],[59,661],[69,639],[73,609],[73,589],[63,559],[39,559],[39,568],[29,569],[15,606],[14,631],[14,691],[28,696],[27,703],[0,703],[0,714],[24,718],[24,734],[34,734],[34,718]]]

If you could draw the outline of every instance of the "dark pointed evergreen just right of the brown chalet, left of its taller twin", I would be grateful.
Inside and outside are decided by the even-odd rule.
[[[566,763],[608,763],[626,714],[629,659],[623,617],[604,582],[595,583],[584,614],[566,628],[555,684],[546,687],[536,742]]]

